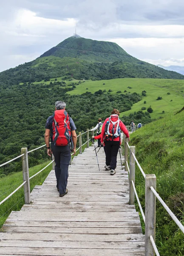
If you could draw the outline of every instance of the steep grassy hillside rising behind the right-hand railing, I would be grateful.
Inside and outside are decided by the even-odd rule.
[[[157,192],[184,224],[184,111],[145,125],[130,136],[146,174],[155,174]],[[144,207],[145,181],[136,168],[136,189]],[[183,256],[184,234],[157,201],[156,243],[161,256]]]

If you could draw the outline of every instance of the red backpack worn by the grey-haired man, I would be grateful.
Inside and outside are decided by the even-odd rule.
[[[65,109],[54,111],[52,129],[54,145],[68,145],[71,138],[71,129],[69,116]]]

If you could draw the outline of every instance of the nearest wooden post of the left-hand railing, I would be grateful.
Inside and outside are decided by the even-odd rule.
[[[29,183],[29,166],[28,166],[28,148],[21,148],[22,156],[22,165],[23,165],[23,181],[26,181],[24,184],[24,201],[25,204],[30,204],[30,183]]]

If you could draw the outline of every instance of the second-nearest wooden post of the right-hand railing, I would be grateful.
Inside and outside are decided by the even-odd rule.
[[[135,159],[133,154],[136,154],[136,147],[130,146],[130,176],[129,176],[129,204],[135,204],[135,192],[132,185],[135,184]]]

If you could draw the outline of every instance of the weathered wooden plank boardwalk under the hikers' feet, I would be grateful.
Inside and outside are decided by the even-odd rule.
[[[128,204],[128,174],[118,154],[116,174],[94,147],[74,157],[68,194],[60,198],[54,170],[31,192],[31,204],[11,212],[0,232],[1,255],[143,256],[139,214]],[[123,160],[123,159],[122,159]]]

